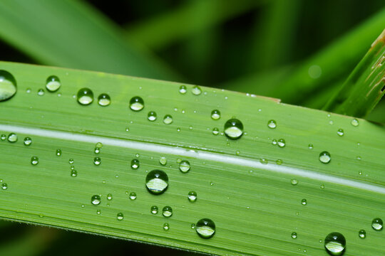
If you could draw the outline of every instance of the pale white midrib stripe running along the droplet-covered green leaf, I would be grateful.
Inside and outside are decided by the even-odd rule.
[[[311,178],[317,181],[324,181],[329,183],[336,183],[344,186],[350,186],[353,188],[360,188],[366,191],[372,191],[376,193],[385,194],[384,186],[377,186],[361,181],[353,181],[347,178],[340,178],[338,176],[332,176],[328,174],[321,174],[315,171],[305,169],[295,169],[288,166],[282,166],[277,164],[261,164],[260,161],[252,159],[244,159],[239,156],[229,156],[223,154],[216,154],[207,151],[188,150],[175,146],[165,146],[159,144],[151,144],[149,142],[133,142],[125,139],[112,139],[107,137],[100,137],[96,135],[76,134],[72,132],[59,132],[48,129],[39,129],[31,127],[19,127],[9,124],[0,124],[0,130],[4,132],[15,132],[22,134],[35,135],[39,137],[48,137],[54,139],[65,139],[75,142],[88,142],[96,144],[98,142],[103,145],[120,146],[126,149],[138,149],[150,152],[162,152],[164,154],[174,154],[178,156],[188,156],[195,159],[216,161],[224,164],[233,164],[237,166],[247,166],[256,169],[263,169],[265,171],[272,171],[281,174],[290,174],[292,176],[300,176],[303,178]]]

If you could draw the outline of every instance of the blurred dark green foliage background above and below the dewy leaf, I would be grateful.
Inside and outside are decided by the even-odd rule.
[[[322,108],[385,28],[385,1],[0,2],[1,60],[173,80]],[[382,100],[367,117],[385,122]],[[187,255],[0,222],[0,255]]]

